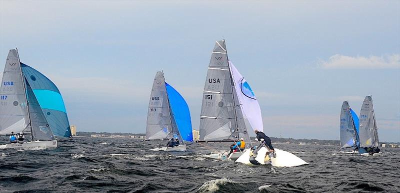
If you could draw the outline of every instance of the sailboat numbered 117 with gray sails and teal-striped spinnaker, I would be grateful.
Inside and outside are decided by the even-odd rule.
[[[70,135],[65,106],[57,87],[44,75],[23,64],[16,49],[9,50],[0,88],[0,135],[30,135],[22,144],[4,148],[55,148]]]

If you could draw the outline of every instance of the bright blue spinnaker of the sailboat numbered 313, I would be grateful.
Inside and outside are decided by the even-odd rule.
[[[165,83],[168,94],[171,115],[173,116],[180,136],[184,141],[192,142],[193,134],[191,132],[190,111],[183,97],[169,84]]]

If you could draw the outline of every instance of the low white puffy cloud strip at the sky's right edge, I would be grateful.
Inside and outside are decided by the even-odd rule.
[[[320,60],[319,66],[327,69],[360,69],[360,68],[400,68],[400,54],[384,56],[345,56],[335,54],[328,61]]]

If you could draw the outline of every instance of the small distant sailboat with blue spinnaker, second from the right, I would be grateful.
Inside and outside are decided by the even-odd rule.
[[[341,105],[340,111],[340,149],[352,148],[353,151],[346,152],[358,154],[358,117],[350,108],[347,101]]]

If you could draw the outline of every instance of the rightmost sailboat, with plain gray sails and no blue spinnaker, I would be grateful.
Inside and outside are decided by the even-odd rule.
[[[378,128],[373,112],[372,96],[366,96],[361,106],[359,114],[359,149],[358,153],[362,156],[378,155],[379,139]]]

